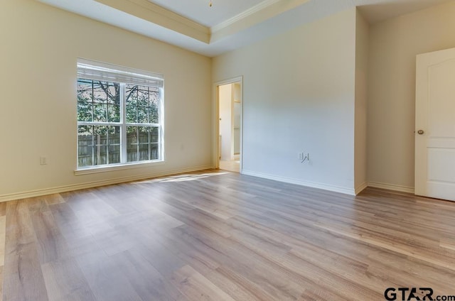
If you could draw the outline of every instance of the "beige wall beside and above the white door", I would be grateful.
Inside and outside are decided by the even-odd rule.
[[[455,47],[455,1],[370,27],[368,182],[414,188],[415,57]]]

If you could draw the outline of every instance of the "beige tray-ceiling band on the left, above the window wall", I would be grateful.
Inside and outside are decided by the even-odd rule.
[[[95,0],[113,9],[176,31],[203,43],[210,43],[210,28],[164,9],[148,0]]]

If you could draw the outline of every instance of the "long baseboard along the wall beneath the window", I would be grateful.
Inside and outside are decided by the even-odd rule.
[[[123,182],[146,180],[146,179],[149,179],[152,177],[163,177],[166,175],[175,175],[178,173],[191,173],[191,172],[198,171],[198,170],[206,170],[206,169],[212,169],[212,168],[213,168],[213,165],[202,165],[202,166],[196,166],[193,168],[167,170],[167,171],[162,171],[162,172],[158,172],[158,173],[147,173],[144,175],[134,175],[134,176],[129,176],[129,177],[116,177],[114,179],[109,179],[109,180],[87,182],[87,183],[75,184],[75,185],[64,185],[64,186],[44,188],[44,189],[39,189],[39,190],[30,190],[30,191],[26,191],[26,192],[17,192],[17,193],[11,193],[9,195],[0,195],[0,202],[11,201],[14,199],[24,199],[26,197],[39,197],[41,195],[51,195],[53,193],[68,192],[68,191],[72,191],[72,190],[81,190],[81,189],[100,187],[100,186],[105,186],[105,185],[119,184],[119,183],[123,183]]]

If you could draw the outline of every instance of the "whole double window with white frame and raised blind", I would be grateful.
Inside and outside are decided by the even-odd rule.
[[[77,168],[163,160],[163,76],[77,60]]]

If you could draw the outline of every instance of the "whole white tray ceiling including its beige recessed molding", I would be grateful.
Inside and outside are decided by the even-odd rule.
[[[376,23],[448,0],[37,0],[207,55],[358,6]]]

